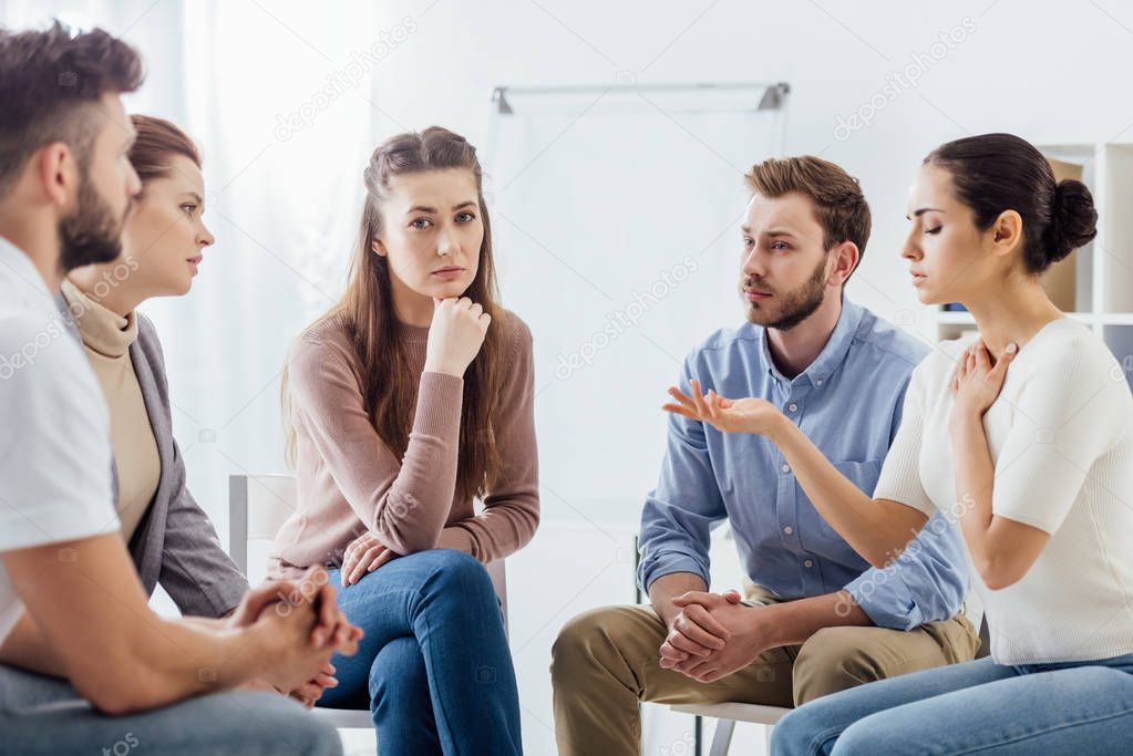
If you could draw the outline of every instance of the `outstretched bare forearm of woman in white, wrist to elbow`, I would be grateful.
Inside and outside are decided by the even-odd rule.
[[[875,567],[895,559],[927,522],[918,509],[862,492],[786,416],[769,437],[823,518]]]

